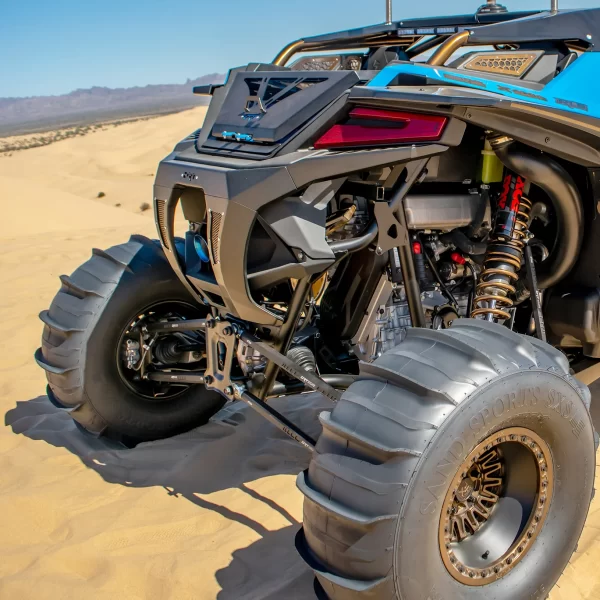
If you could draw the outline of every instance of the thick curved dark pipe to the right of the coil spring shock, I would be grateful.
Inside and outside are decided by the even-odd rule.
[[[537,274],[540,289],[552,287],[571,271],[583,241],[583,207],[577,186],[569,173],[549,156],[518,150],[507,137],[491,143],[504,166],[544,190],[554,207],[558,243]]]

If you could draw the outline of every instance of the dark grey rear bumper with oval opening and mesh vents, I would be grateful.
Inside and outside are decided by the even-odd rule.
[[[441,142],[344,152],[305,150],[260,162],[202,155],[193,148],[171,154],[160,163],[154,185],[161,244],[178,277],[199,301],[246,321],[278,325],[279,318],[253,300],[246,270],[248,241],[259,211],[275,200],[304,193],[315,182],[440,154],[448,148],[444,139]],[[175,250],[175,210],[188,189],[198,190],[205,202],[210,275],[186,273]],[[309,255],[283,268],[287,276],[300,278],[325,270],[333,260],[333,254],[329,260],[312,260]]]

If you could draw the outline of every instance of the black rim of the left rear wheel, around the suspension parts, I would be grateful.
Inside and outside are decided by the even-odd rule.
[[[137,371],[129,369],[126,366],[127,361],[124,351],[127,340],[137,341],[139,339],[137,331],[145,323],[189,318],[198,318],[198,308],[186,302],[172,300],[151,304],[136,312],[136,314],[128,320],[128,324],[123,328],[117,344],[117,370],[121,381],[139,398],[153,403],[170,401],[181,396],[194,384],[160,383],[141,379]],[[194,334],[189,333],[189,335],[193,336]],[[197,335],[204,339],[203,333],[200,332]],[[157,338],[166,336],[167,334],[163,334],[162,336],[157,336]],[[204,367],[202,366],[204,363],[205,361],[199,363],[200,366],[196,366],[195,369],[204,370]]]

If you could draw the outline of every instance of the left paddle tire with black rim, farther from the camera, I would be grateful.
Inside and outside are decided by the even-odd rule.
[[[203,370],[201,334],[140,339],[142,322],[202,318],[177,279],[158,242],[132,236],[125,244],[92,251],[91,258],[62,286],[44,323],[38,364],[46,371],[48,397],[68,409],[95,435],[125,443],[165,438],[202,425],[224,403],[204,385],[170,385],[140,377],[150,369],[185,360]],[[187,345],[186,345],[187,344]],[[145,356],[144,346],[152,354]],[[180,352],[181,348],[192,348]]]

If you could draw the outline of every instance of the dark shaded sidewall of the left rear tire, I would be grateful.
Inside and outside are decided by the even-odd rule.
[[[110,429],[134,439],[156,439],[206,422],[223,405],[219,394],[193,386],[165,402],[137,396],[121,380],[117,345],[131,320],[162,302],[197,304],[173,273],[154,243],[144,244],[123,272],[102,307],[82,352],[84,397],[110,424]],[[198,316],[205,315],[198,305]]]

